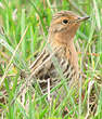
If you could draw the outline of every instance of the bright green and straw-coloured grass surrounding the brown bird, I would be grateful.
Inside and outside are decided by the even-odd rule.
[[[71,96],[72,91],[66,89],[67,96],[56,108],[60,94],[50,105],[46,101],[47,95],[41,95],[39,84],[36,84],[35,94],[34,89],[25,88],[26,93],[25,90],[22,92],[22,101],[17,97],[13,105],[11,102],[25,82],[24,79],[20,79],[21,70],[28,71],[29,64],[42,51],[51,17],[61,10],[72,10],[80,16],[90,15],[90,19],[79,27],[75,44],[77,48],[79,45],[78,51],[81,52],[78,55],[79,67],[86,75],[86,90],[89,79],[100,79],[95,81],[95,85],[99,81],[101,84],[102,0],[35,0],[35,2],[33,0],[0,0],[0,25],[4,28],[4,34],[2,32],[0,34],[0,116],[2,119],[71,119],[71,116],[85,119],[86,109],[84,107],[88,93],[82,104],[78,106],[73,98],[75,94]],[[56,68],[59,68],[58,65]],[[99,91],[99,87],[97,90]],[[67,98],[73,108],[67,104]],[[102,89],[99,92],[97,115],[91,116],[92,119],[102,117],[101,100]],[[65,106],[69,113],[63,117]],[[79,110],[82,110],[80,115]]]

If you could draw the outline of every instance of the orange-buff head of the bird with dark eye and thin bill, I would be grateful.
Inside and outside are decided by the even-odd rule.
[[[80,23],[89,16],[80,17],[71,11],[61,11],[54,14],[50,25],[50,40],[68,43],[74,38]]]

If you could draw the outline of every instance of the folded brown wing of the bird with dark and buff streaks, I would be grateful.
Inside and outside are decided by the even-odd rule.
[[[55,55],[61,48],[50,51],[47,47],[43,49],[42,53],[39,54],[37,60],[30,65],[30,72],[35,71],[37,78],[41,78],[41,74],[46,75],[48,70],[52,68],[52,57]]]

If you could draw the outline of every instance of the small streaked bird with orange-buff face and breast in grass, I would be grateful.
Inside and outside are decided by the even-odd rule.
[[[78,55],[74,44],[74,37],[80,23],[89,16],[80,17],[72,11],[60,11],[52,16],[47,44],[36,61],[29,66],[35,79],[40,84],[42,93],[47,92],[48,79],[50,88],[61,82],[61,77],[67,81],[71,88],[79,80]],[[54,60],[53,60],[54,58]],[[56,69],[55,62],[62,74]]]

